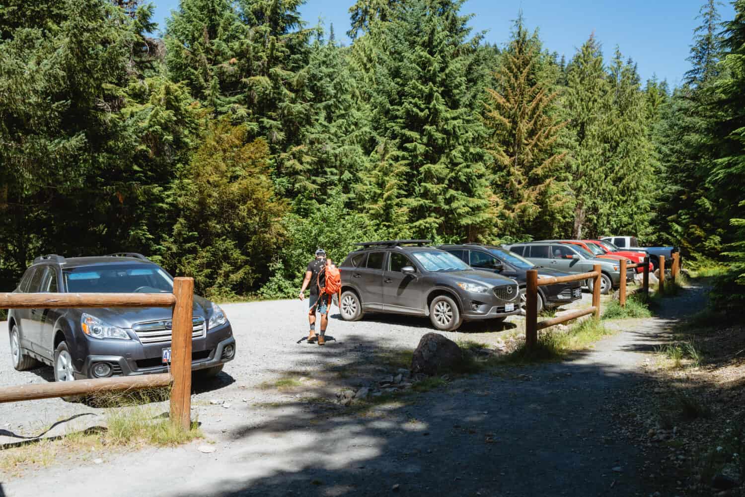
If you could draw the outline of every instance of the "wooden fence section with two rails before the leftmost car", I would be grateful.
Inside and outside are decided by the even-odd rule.
[[[171,373],[75,382],[26,384],[0,388],[0,402],[20,402],[62,396],[171,385],[171,422],[191,426],[191,314],[194,279],[174,279],[173,294],[1,294],[0,308],[173,307]]]

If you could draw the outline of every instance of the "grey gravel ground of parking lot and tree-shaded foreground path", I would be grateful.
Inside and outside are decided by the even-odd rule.
[[[694,311],[691,304],[687,308]],[[334,319],[328,335],[335,341],[321,347],[297,343],[307,328],[297,301],[224,308],[234,324],[238,358],[213,382],[198,384],[192,399],[206,437],[215,442],[214,453],[199,452],[203,442],[197,442],[117,454],[98,466],[80,464],[72,455],[69,463],[5,481],[0,496],[45,495],[51,486],[60,496],[100,486],[108,496],[163,497],[644,491],[644,461],[615,435],[612,402],[641,380],[639,364],[671,320],[626,320],[613,325],[620,333],[569,361],[454,379],[446,387],[358,411],[328,401],[341,387],[395,371],[388,352],[416,346],[431,331],[428,320]],[[520,330],[521,321],[469,325],[444,335],[495,341]],[[1,357],[9,357],[7,348],[0,342]],[[2,385],[42,382],[49,374],[17,373],[9,361],[0,364]],[[273,386],[287,377],[302,386]],[[87,413],[92,420],[100,411],[57,399],[0,405],[0,434],[5,423],[4,434],[28,436],[60,418]]]

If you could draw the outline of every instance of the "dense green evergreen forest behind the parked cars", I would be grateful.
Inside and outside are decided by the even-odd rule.
[[[348,46],[301,5],[156,27],[147,0],[4,0],[0,291],[47,253],[143,253],[235,300],[296,295],[317,247],[624,234],[723,268],[743,308],[745,0],[704,2],[677,87],[522,16],[492,45],[463,0],[356,0]]]

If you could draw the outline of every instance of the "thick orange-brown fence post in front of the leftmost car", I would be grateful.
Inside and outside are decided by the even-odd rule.
[[[194,279],[174,278],[174,318],[171,321],[171,423],[191,428],[191,323]]]

